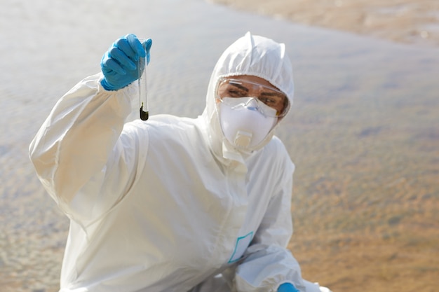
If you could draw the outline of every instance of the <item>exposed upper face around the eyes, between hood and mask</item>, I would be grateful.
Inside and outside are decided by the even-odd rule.
[[[230,76],[219,82],[217,96],[255,97],[260,102],[276,110],[276,116],[282,117],[288,109],[288,97],[269,81],[257,76]]]

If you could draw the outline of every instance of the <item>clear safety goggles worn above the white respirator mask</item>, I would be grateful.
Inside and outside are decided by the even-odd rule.
[[[248,106],[247,104],[240,104],[238,101],[246,100],[240,99],[241,97],[252,97],[257,100],[257,109],[264,116],[273,118],[285,116],[290,107],[288,97],[280,90],[241,79],[221,78],[216,96],[219,102],[224,102],[230,106]]]

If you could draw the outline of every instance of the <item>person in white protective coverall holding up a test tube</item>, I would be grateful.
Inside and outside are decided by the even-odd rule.
[[[329,291],[286,248],[295,166],[274,136],[294,91],[285,45],[248,32],[219,58],[200,116],[128,122],[150,50],[118,39],[29,146],[70,219],[60,291]]]

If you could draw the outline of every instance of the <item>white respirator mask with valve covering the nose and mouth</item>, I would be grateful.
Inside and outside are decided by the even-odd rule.
[[[224,97],[219,102],[219,123],[224,137],[238,148],[260,144],[277,121],[276,110],[254,97]]]

